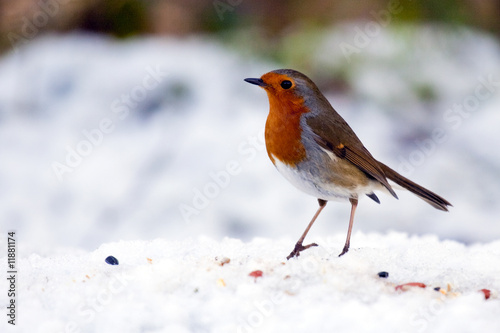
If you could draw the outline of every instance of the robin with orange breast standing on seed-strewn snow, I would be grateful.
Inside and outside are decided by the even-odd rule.
[[[318,87],[304,74],[278,69],[246,82],[264,88],[269,98],[265,139],[269,158],[295,187],[318,198],[319,208],[287,257],[298,257],[315,243],[303,245],[314,221],[329,200],[351,203],[344,249],[351,239],[354,213],[363,194],[380,203],[376,190],[398,199],[388,180],[413,192],[434,208],[448,211],[451,204],[439,195],[401,176],[377,161]]]

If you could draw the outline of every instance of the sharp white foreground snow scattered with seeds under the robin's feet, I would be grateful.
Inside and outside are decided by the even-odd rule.
[[[285,260],[292,239],[107,243],[21,259],[23,332],[498,332],[500,242],[342,235]],[[104,262],[114,255],[120,262]],[[225,264],[222,264],[226,262]],[[261,277],[249,274],[262,271]],[[388,278],[377,273],[387,271]],[[421,282],[426,288],[397,291]],[[434,290],[440,287],[442,292]],[[9,330],[14,331],[14,330]]]

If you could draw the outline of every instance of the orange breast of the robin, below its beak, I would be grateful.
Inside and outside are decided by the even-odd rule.
[[[300,117],[309,112],[302,98],[280,99],[268,93],[269,115],[266,121],[267,154],[273,163],[275,158],[289,166],[295,166],[306,158],[301,141]]]

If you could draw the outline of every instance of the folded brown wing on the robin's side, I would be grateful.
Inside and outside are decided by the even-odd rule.
[[[328,106],[331,108],[331,113],[326,117],[317,115],[306,120],[313,130],[314,140],[324,149],[334,153],[335,156],[346,159],[368,176],[379,181],[395,198],[398,198],[387,182],[379,162],[373,158],[351,127],[329,103]]]

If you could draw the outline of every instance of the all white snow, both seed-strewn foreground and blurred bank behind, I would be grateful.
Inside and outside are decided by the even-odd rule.
[[[500,46],[412,27],[348,64],[345,27],[319,40],[311,72],[296,69],[341,73],[351,90],[326,91],[333,106],[449,213],[404,192],[362,200],[337,258],[349,205],[332,202],[306,240],[320,247],[282,264],[317,202],[269,162],[267,97],[243,81],[282,65],[203,37],[45,36],[0,59],[0,244],[16,231],[19,329],[498,332]],[[395,292],[406,282],[428,287]]]

